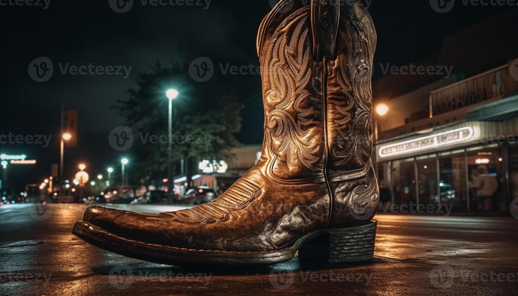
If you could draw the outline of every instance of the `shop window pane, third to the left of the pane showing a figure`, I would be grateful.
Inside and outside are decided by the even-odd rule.
[[[416,203],[413,159],[392,161],[392,180],[396,204]]]

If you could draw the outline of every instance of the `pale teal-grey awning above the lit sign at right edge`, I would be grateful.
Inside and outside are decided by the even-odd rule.
[[[467,121],[507,121],[518,117],[518,94],[514,93],[502,100],[473,108],[467,114]]]

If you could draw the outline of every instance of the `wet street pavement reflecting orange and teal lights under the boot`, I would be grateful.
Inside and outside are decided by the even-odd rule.
[[[0,206],[0,295],[518,294],[513,217],[379,214],[371,262],[320,264],[295,257],[229,269],[154,264],[93,247],[70,232],[85,208],[54,204],[38,215],[34,204]]]

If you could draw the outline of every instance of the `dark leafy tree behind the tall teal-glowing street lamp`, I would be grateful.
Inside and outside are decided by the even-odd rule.
[[[167,170],[167,89],[180,93],[173,101],[172,160],[175,164],[185,160],[189,183],[197,160],[231,157],[231,149],[240,145],[235,134],[241,129],[242,105],[234,90],[218,77],[196,82],[189,76],[188,66],[164,67],[156,62],[150,73],[139,73],[136,84],[128,90],[128,99],[119,100],[114,108],[134,132],[131,153],[139,179],[161,180]]]

